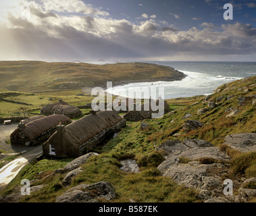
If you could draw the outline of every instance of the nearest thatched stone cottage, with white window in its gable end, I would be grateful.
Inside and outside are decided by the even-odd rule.
[[[43,144],[43,155],[80,157],[124,126],[126,120],[116,111],[93,112],[68,126],[57,126],[57,131]]]

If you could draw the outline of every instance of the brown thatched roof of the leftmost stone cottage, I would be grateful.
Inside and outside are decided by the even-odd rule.
[[[66,117],[65,115],[49,115],[45,116],[39,119],[36,119],[34,121],[30,121],[28,124],[25,124],[25,128],[23,129],[24,134],[30,139],[36,138],[36,136],[39,136],[43,132],[47,132],[51,128],[54,128],[59,124],[59,122],[68,122],[71,121],[69,117]],[[11,136],[14,136],[16,132],[18,132],[19,128],[14,130],[12,132]]]

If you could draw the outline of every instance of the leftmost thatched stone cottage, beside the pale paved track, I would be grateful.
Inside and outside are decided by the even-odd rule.
[[[71,119],[65,115],[49,115],[34,119],[26,123],[21,121],[18,128],[11,133],[11,144],[24,144],[26,146],[45,142],[56,130],[61,122],[63,125],[71,123]]]

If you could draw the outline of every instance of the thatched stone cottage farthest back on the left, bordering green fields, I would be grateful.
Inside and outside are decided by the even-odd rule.
[[[69,105],[68,103],[59,100],[57,103],[51,103],[41,109],[42,115],[62,114],[70,118],[82,115],[82,111],[78,107]]]

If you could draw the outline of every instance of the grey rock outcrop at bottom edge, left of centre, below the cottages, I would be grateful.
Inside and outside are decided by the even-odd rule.
[[[55,202],[97,202],[97,198],[105,200],[116,198],[116,190],[107,181],[95,184],[80,184],[57,196]]]

